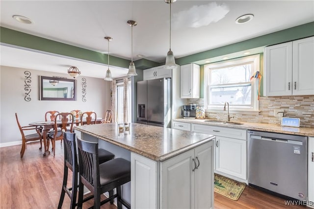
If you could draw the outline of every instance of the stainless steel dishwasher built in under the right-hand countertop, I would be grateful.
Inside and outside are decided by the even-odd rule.
[[[307,200],[307,137],[247,131],[248,183]]]

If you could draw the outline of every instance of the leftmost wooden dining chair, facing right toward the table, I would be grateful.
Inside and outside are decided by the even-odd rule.
[[[23,156],[24,156],[27,141],[40,140],[40,148],[39,149],[42,149],[43,136],[40,133],[40,127],[39,126],[21,126],[17,113],[15,113],[15,117],[16,117],[16,122],[18,123],[19,129],[20,129],[21,135],[22,135],[22,148],[21,148],[21,152],[20,152],[21,158],[23,158]],[[29,131],[29,130],[36,130],[37,133],[25,135],[24,131]]]

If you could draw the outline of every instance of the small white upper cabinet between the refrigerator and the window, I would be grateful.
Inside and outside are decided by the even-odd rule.
[[[181,98],[200,98],[200,66],[194,63],[182,65]]]

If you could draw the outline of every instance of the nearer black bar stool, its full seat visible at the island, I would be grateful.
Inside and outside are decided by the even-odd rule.
[[[94,195],[94,208],[117,197],[118,209],[122,205],[131,209],[130,204],[121,198],[121,186],[131,181],[131,163],[123,158],[115,158],[99,164],[98,143],[78,139],[79,160],[79,188],[78,209],[83,204],[83,186],[86,186]],[[116,188],[117,193],[104,201],[100,201],[100,195]]]

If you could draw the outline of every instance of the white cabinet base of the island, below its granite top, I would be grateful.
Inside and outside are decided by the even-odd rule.
[[[164,162],[131,153],[134,209],[213,208],[214,141]]]

